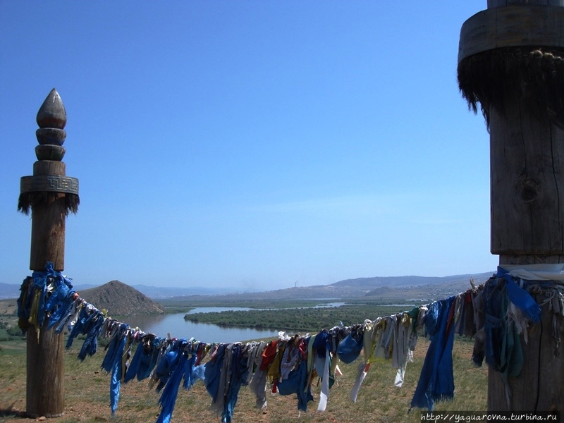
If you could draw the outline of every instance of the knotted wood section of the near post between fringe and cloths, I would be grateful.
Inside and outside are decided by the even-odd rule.
[[[564,131],[519,98],[490,112],[491,253],[564,255]]]

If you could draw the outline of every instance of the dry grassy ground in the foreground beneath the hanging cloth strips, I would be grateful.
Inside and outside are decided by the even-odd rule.
[[[455,398],[438,403],[436,410],[486,410],[486,368],[474,367],[470,357],[472,343],[455,341],[453,350]],[[0,342],[0,423],[25,422],[25,343]],[[414,362],[407,364],[402,388],[393,386],[396,369],[391,362],[372,364],[362,384],[357,403],[352,403],[350,389],[355,380],[358,364],[341,364],[343,376],[331,388],[325,412],[317,412],[318,386],[314,383],[315,402],[309,403],[307,412],[298,412],[295,396],[271,395],[265,411],[255,408],[255,398],[245,386],[233,415],[234,422],[419,422],[420,412],[412,410],[407,415],[424,355],[429,343],[419,341]],[[78,348],[78,347],[77,347]],[[147,381],[132,381],[121,387],[121,398],[116,417],[109,410],[109,375],[100,369],[103,350],[84,362],[76,358],[78,350],[65,355],[66,408],[62,417],[49,419],[55,423],[75,422],[154,422],[159,414],[159,394],[150,390]],[[197,381],[190,391],[180,389],[173,422],[219,422],[220,418],[209,411],[211,399],[202,381]],[[29,420],[27,420],[29,421]]]

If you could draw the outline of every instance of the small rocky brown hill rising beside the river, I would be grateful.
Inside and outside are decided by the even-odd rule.
[[[111,281],[80,292],[80,297],[97,307],[106,309],[111,317],[132,314],[162,314],[164,307],[120,281]]]

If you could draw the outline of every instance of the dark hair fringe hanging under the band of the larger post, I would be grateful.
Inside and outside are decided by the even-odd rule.
[[[458,87],[468,108],[478,103],[489,128],[489,109],[517,95],[539,119],[564,129],[564,50],[505,47],[484,51],[458,63]]]

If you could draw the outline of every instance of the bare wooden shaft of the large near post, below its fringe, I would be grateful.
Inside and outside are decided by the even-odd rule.
[[[564,263],[564,131],[526,110],[515,99],[505,116],[491,111],[491,251],[502,267]],[[509,379],[510,405],[501,374],[489,371],[489,410],[564,410],[564,355],[548,307],[541,306],[541,323],[522,342],[524,366]]]

